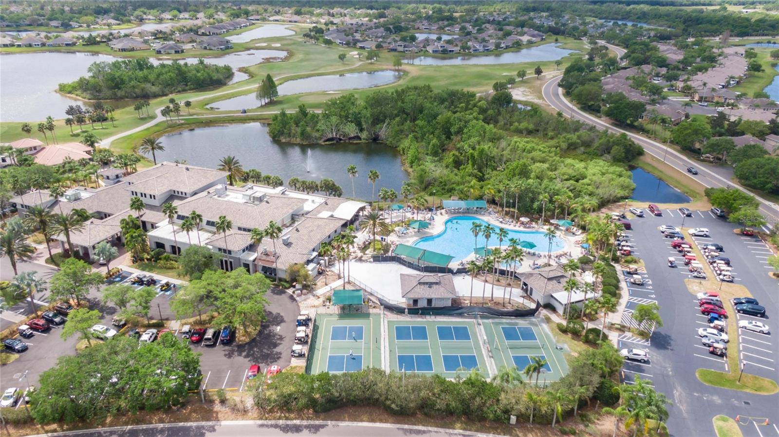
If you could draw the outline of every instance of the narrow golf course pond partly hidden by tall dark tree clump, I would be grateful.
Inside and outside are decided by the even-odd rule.
[[[387,85],[397,82],[402,76],[398,72],[382,70],[378,72],[356,72],[331,76],[312,76],[303,79],[293,79],[279,85],[279,95],[314,93],[317,91],[357,90],[372,88],[373,86]],[[219,111],[239,111],[259,107],[259,100],[254,93],[232,97],[209,104]]]

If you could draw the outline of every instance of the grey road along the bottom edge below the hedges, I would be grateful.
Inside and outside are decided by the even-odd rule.
[[[453,429],[428,428],[421,426],[378,424],[365,422],[336,421],[223,421],[196,422],[164,425],[142,425],[122,428],[107,428],[75,432],[56,432],[46,437],[80,435],[83,437],[239,437],[263,435],[263,437],[294,437],[317,435],[319,437],[400,437],[426,435],[431,437],[465,437],[481,434]],[[33,437],[44,437],[37,435]]]

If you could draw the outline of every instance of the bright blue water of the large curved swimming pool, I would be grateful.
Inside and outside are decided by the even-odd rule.
[[[414,246],[432,250],[433,252],[445,253],[446,255],[453,256],[454,261],[465,259],[474,253],[474,248],[482,247],[487,243],[482,234],[479,234],[478,241],[474,241],[474,234],[471,233],[471,225],[474,221],[481,223],[482,226],[487,224],[485,220],[481,220],[478,217],[451,217],[446,220],[446,227],[442,232],[420,238],[414,241]],[[495,225],[492,226],[495,227]],[[549,241],[544,237],[544,232],[542,231],[515,231],[508,228],[506,228],[506,231],[509,231],[509,237],[503,240],[503,248],[509,245],[509,238],[530,241],[536,245],[535,248],[530,249],[534,252],[546,253],[549,247]],[[474,242],[476,246],[474,246]],[[492,234],[492,237],[490,237],[489,245],[490,247],[498,246],[498,238],[495,234]],[[565,247],[565,243],[561,238],[555,237],[552,240],[552,252],[562,250]]]

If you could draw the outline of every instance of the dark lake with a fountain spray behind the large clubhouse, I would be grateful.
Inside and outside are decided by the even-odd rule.
[[[292,177],[311,181],[331,178],[351,197],[351,179],[346,173],[349,164],[358,169],[354,189],[358,199],[371,199],[368,171],[375,169],[381,177],[376,181],[375,192],[380,187],[394,189],[408,175],[400,164],[400,153],[382,143],[337,143],[330,145],[303,145],[274,141],[268,135],[268,125],[245,123],[211,126],[171,133],[160,138],[164,152],[157,152],[157,162],[186,160],[187,164],[214,168],[219,160],[234,155],[244,170],[256,168],[263,174],[273,174],[284,179]]]

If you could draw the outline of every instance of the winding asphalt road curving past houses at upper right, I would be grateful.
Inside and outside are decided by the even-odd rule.
[[[610,44],[606,45],[608,48],[615,50],[619,56],[622,56],[625,53],[625,50],[622,48],[618,48]],[[664,160],[666,164],[671,165],[671,167],[674,167],[676,170],[680,171],[682,174],[688,177],[693,176],[686,172],[686,168],[696,167],[699,174],[694,176],[694,178],[696,181],[699,181],[701,184],[707,187],[736,188],[741,189],[743,192],[753,194],[752,192],[749,192],[748,190],[743,189],[742,187],[731,182],[731,178],[733,178],[732,167],[714,166],[690,160],[689,158],[682,155],[682,153],[664,146],[664,144],[657,143],[656,141],[644,138],[640,135],[636,135],[633,132],[619,129],[618,127],[610,125],[608,122],[605,122],[600,118],[581,111],[579,108],[575,107],[568,100],[566,100],[566,97],[563,96],[563,90],[558,86],[560,79],[562,79],[562,76],[550,79],[547,83],[545,83],[541,93],[543,94],[547,103],[558,111],[562,112],[562,115],[579,120],[581,122],[585,122],[590,125],[594,125],[597,127],[597,129],[608,129],[609,131],[616,133],[625,133],[630,137],[630,139],[633,139],[633,141],[643,146],[643,150],[647,151],[647,153],[650,153],[652,156],[657,157],[658,159]],[[760,196],[756,197],[760,201],[760,213],[763,213],[763,215],[768,218],[768,227],[770,228],[773,226],[773,224],[779,221],[779,205],[763,199]]]

